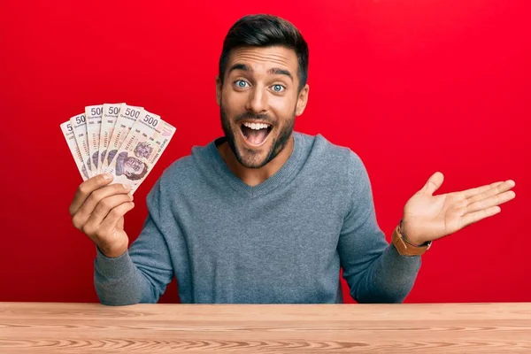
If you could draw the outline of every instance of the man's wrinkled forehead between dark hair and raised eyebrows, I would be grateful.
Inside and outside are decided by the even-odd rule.
[[[295,50],[283,46],[237,48],[228,57],[227,69],[235,64],[247,65],[255,73],[279,67],[296,74],[298,67]]]

